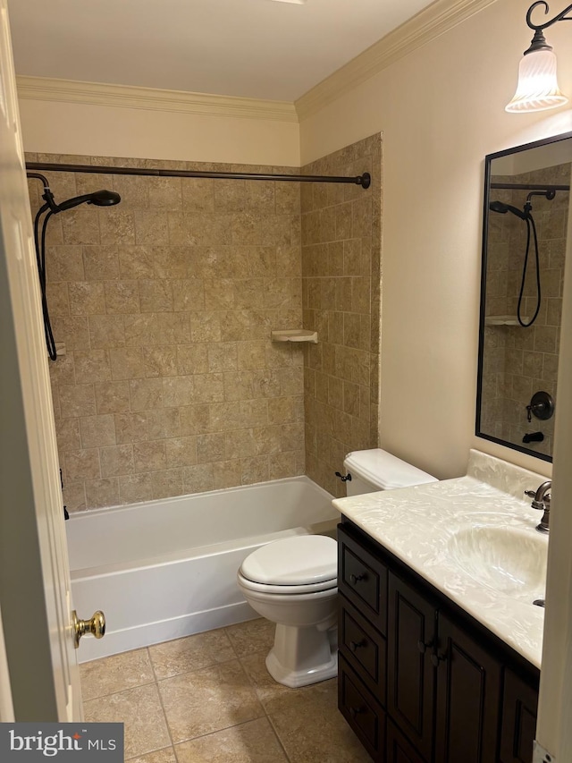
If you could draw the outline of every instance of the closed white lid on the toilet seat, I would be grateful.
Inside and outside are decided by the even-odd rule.
[[[337,575],[337,544],[325,535],[275,540],[248,555],[240,572],[249,581],[269,585],[331,581]]]

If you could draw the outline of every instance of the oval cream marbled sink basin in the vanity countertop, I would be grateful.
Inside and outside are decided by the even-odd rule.
[[[548,538],[510,527],[474,526],[458,530],[450,555],[475,581],[511,598],[543,598]]]

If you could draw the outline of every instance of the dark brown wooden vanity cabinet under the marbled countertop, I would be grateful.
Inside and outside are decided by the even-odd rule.
[[[339,707],[372,759],[531,763],[538,671],[351,522],[338,541]]]

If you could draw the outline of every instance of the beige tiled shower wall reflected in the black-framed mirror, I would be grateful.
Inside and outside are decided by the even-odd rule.
[[[492,182],[568,185],[570,165],[557,165]],[[528,191],[493,190],[499,199],[522,209]],[[542,431],[542,443],[526,447],[551,454],[554,419],[526,420],[526,405],[534,392],[544,390],[557,401],[559,330],[562,312],[569,192],[557,191],[549,201],[531,199],[538,232],[542,304],[529,327],[485,326],[481,429],[486,434],[523,445],[526,432]],[[517,315],[518,293],[526,250],[526,225],[517,216],[489,213],[486,316]],[[523,300],[523,315],[530,320],[536,309],[534,243],[531,242]]]

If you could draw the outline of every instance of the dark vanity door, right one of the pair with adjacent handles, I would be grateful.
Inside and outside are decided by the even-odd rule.
[[[440,763],[497,759],[501,664],[465,631],[439,616],[435,758]]]

